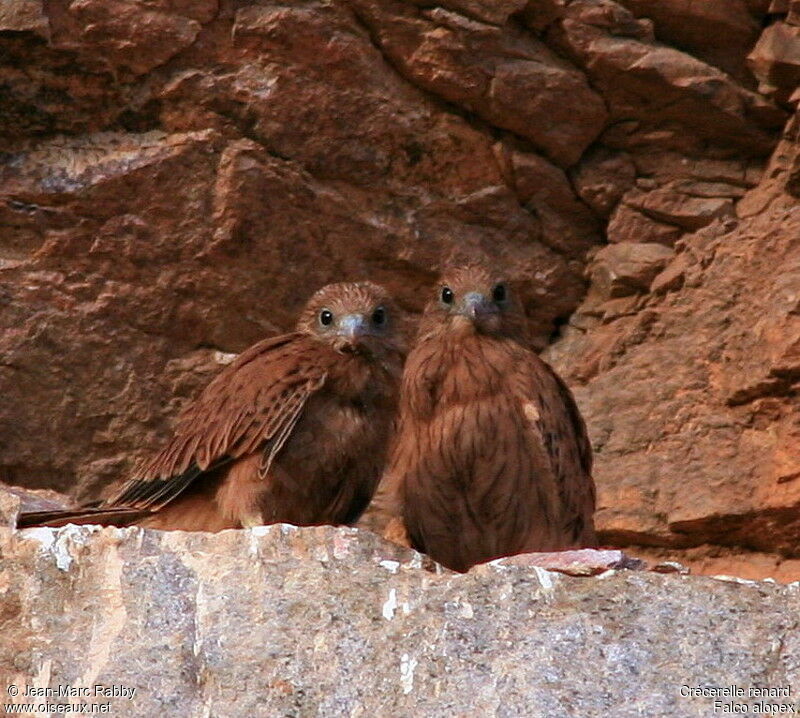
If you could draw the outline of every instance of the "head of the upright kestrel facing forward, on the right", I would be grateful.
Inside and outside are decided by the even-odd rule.
[[[421,331],[442,325],[480,334],[517,332],[524,322],[511,283],[478,264],[446,270],[423,315]]]

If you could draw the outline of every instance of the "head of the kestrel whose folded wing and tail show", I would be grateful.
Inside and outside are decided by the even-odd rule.
[[[388,292],[372,282],[328,284],[308,300],[297,331],[342,353],[400,348],[400,312]]]

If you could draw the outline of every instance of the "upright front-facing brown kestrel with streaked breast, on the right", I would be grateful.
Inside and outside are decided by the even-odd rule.
[[[403,373],[379,503],[456,571],[595,543],[591,447],[564,382],[531,348],[509,283],[445,274]]]

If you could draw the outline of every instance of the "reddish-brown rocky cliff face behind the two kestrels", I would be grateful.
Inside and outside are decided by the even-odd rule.
[[[478,249],[557,339],[603,540],[800,575],[798,23],[794,0],[4,3],[0,478],[95,496],[318,285],[414,311]]]

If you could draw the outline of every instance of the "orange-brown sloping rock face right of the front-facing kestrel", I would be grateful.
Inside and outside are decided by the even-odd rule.
[[[677,249],[673,291],[550,349],[594,442],[601,540],[798,556],[800,209]]]

